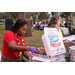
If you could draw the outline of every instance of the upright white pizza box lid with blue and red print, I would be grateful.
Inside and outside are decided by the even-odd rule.
[[[47,56],[55,56],[62,53],[66,53],[65,46],[56,28],[44,28],[42,41],[43,41]]]

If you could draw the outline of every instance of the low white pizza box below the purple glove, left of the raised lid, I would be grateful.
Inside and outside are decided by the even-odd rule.
[[[29,51],[29,62],[51,62],[48,56],[32,53]]]

